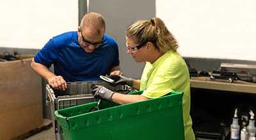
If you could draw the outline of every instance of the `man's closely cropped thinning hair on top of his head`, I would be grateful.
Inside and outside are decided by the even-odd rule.
[[[99,13],[95,13],[95,12],[86,13],[80,23],[80,28],[83,29],[84,27],[93,27],[97,30],[100,28],[103,28],[105,31],[106,30],[105,19]]]

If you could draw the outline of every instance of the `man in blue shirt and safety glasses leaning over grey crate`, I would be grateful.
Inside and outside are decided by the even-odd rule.
[[[99,13],[86,13],[78,31],[50,39],[36,54],[31,66],[52,88],[67,89],[67,81],[95,81],[100,75],[122,74],[118,45],[104,34],[105,20]],[[54,64],[54,73],[49,70]]]

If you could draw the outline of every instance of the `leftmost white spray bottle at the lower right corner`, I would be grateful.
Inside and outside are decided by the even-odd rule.
[[[238,124],[237,109],[235,110],[233,122],[230,125],[230,132],[231,132],[230,140],[238,140],[239,139],[240,125]]]

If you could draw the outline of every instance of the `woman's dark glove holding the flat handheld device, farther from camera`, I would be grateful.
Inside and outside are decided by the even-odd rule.
[[[115,85],[129,85],[132,87],[133,85],[133,79],[132,78],[127,78],[125,76],[120,76],[120,75],[109,75],[108,78],[111,78],[115,81],[113,84]]]

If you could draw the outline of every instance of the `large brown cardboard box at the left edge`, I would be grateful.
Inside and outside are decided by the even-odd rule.
[[[0,139],[12,139],[42,125],[42,78],[31,68],[32,57],[0,62]]]

